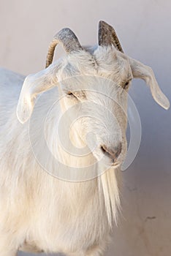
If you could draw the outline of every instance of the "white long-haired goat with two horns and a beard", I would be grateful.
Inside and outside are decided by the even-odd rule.
[[[68,54],[51,64],[58,42]],[[99,23],[99,46],[96,49],[82,48],[70,29],[62,29],[50,45],[47,68],[28,75],[24,83],[23,76],[1,69],[1,256],[14,256],[19,249],[63,252],[72,256],[102,255],[120,208],[120,166],[126,155],[124,111],[127,108],[126,91],[132,78],[145,80],[156,102],[169,108],[168,99],[159,89],[152,69],[126,56],[114,29],[103,21]],[[90,83],[91,89],[87,89]],[[42,92],[45,93],[41,94],[39,104],[34,108],[35,98]],[[49,106],[56,99],[60,99],[60,108],[53,105],[47,115]],[[66,152],[57,136],[59,117],[64,116],[66,123],[73,120],[70,112],[67,114],[71,108],[74,108],[73,113],[82,116],[70,127],[72,143],[80,151],[85,145],[91,150],[82,157]],[[115,116],[113,121],[110,113],[104,114],[103,109],[110,110]],[[91,166],[94,178],[73,182],[77,178],[72,178],[70,172],[67,173],[69,181],[66,181],[63,165],[56,165],[46,155],[37,138],[37,131],[38,135],[42,132],[45,116],[45,141],[53,157],[64,164],[66,171],[73,166],[81,170]],[[30,117],[29,128],[26,121]],[[96,135],[96,141],[93,135],[86,140],[89,132]],[[72,151],[73,145],[68,140],[66,138],[68,150]],[[34,148],[38,148],[36,157]],[[43,159],[45,166],[42,166]],[[104,166],[107,170],[102,173]]]

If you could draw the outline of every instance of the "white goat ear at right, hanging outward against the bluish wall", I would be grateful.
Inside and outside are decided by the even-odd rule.
[[[145,80],[148,86],[150,86],[153,99],[156,100],[156,102],[161,105],[162,108],[170,108],[170,102],[159,88],[151,67],[145,66],[144,64],[140,63],[140,61],[136,61],[131,58],[129,58],[129,63],[132,68],[132,75],[134,78],[142,78]]]

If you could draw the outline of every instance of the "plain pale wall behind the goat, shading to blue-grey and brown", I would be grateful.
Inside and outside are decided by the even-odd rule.
[[[24,75],[37,72],[45,67],[48,44],[57,31],[68,26],[83,45],[94,45],[98,22],[105,20],[115,27],[124,52],[153,68],[171,100],[170,13],[170,0],[1,0],[0,66]],[[105,255],[168,256],[171,110],[153,101],[143,81],[134,80],[130,94],[140,114],[142,140],[137,157],[123,172],[122,216]]]

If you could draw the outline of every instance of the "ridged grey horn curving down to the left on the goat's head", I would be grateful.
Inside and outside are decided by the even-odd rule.
[[[50,42],[46,58],[46,67],[52,63],[54,50],[58,43],[61,43],[66,53],[71,53],[72,50],[83,50],[75,33],[71,29],[61,29],[61,31],[55,35],[53,41]]]

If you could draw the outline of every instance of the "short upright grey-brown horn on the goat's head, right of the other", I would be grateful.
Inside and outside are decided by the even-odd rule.
[[[115,29],[103,20],[100,20],[99,22],[99,45],[114,45],[117,50],[120,50],[121,53],[123,53],[123,49],[118,36],[115,33]]]

